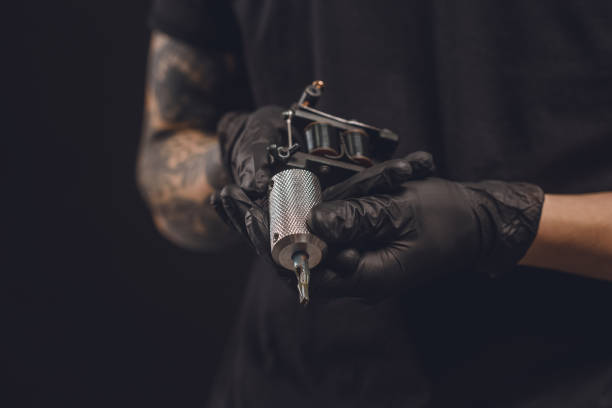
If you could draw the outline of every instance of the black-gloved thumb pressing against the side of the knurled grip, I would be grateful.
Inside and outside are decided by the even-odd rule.
[[[312,209],[308,227],[330,244],[378,246],[416,233],[411,203],[387,195],[323,202]]]

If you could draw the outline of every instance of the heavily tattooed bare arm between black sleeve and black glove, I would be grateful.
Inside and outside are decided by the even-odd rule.
[[[138,183],[158,230],[179,246],[214,250],[235,237],[208,200],[228,181],[214,129],[248,104],[231,54],[204,53],[163,33],[151,38]]]

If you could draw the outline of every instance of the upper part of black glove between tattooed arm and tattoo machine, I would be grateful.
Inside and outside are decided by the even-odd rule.
[[[250,114],[230,112],[217,126],[224,165],[250,197],[260,198],[267,193],[270,181],[267,147],[282,141],[287,129],[282,112],[278,106],[266,106]]]

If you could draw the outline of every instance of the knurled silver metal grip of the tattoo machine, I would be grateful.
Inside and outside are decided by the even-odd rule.
[[[310,210],[321,202],[321,184],[308,170],[289,169],[272,177],[269,195],[270,247],[274,262],[294,271],[293,255],[305,252],[314,268],[327,245],[306,226]]]

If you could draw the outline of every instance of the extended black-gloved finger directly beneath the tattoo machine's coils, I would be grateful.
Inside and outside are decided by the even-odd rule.
[[[326,188],[323,192],[323,200],[392,192],[403,182],[427,177],[434,170],[435,165],[431,154],[414,152],[402,159],[378,163]]]

